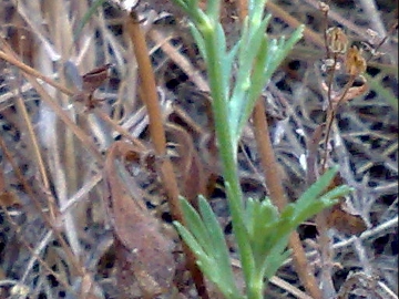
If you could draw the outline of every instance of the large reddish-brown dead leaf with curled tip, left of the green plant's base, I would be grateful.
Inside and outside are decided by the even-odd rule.
[[[117,285],[127,298],[135,296],[139,285],[145,298],[170,290],[175,271],[172,255],[173,241],[161,233],[161,226],[146,209],[142,192],[134,177],[126,177],[123,158],[133,145],[116,142],[105,161],[108,194],[105,205],[114,230],[116,259],[119,265]],[[129,186],[126,181],[129,179]]]

